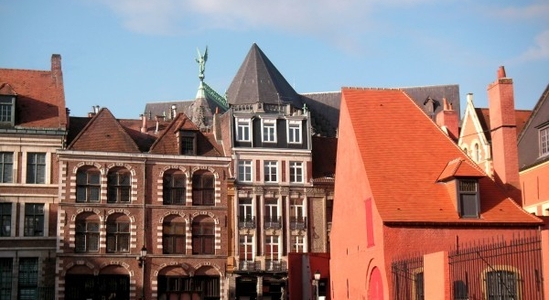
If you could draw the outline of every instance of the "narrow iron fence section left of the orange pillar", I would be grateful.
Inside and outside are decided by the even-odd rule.
[[[393,261],[393,291],[395,300],[423,300],[423,255]]]

